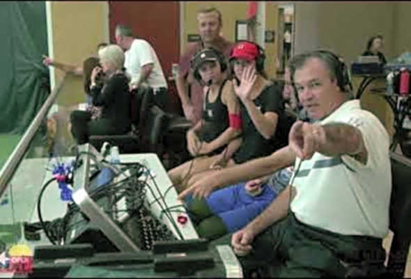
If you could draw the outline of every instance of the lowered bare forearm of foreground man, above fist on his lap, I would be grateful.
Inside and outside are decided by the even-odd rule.
[[[260,234],[264,229],[287,215],[289,204],[290,186],[287,186],[257,218],[247,225],[246,229],[251,229],[254,235]]]

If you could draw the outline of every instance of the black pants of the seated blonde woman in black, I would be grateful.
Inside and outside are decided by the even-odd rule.
[[[77,144],[86,144],[90,135],[123,135],[131,126],[111,119],[91,120],[91,113],[75,110],[70,114],[71,133]]]

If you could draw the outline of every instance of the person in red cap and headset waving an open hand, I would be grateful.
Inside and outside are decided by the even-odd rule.
[[[282,87],[267,79],[264,60],[264,51],[256,43],[241,41],[233,46],[230,68],[234,91],[240,99],[240,115],[231,121],[238,123],[241,119],[242,136],[231,141],[222,153],[194,166],[187,186],[210,172],[267,156],[288,144]],[[191,191],[183,186],[179,198]]]

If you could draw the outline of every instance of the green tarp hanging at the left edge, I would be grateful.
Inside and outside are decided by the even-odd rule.
[[[0,2],[0,133],[24,133],[49,95],[44,1]]]

